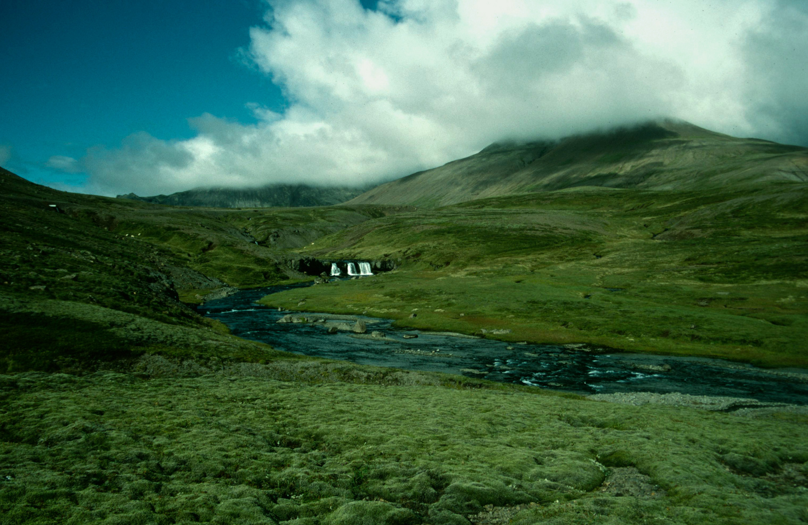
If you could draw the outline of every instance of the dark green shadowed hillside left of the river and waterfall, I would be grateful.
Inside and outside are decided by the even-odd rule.
[[[304,279],[289,247],[382,216],[358,208],[188,210],[42,187],[0,168],[0,372],[271,350],[185,303]],[[269,354],[267,354],[269,352]]]

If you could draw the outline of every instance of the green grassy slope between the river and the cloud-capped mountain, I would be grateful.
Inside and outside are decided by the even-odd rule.
[[[368,220],[305,253],[398,258],[397,271],[262,302],[514,342],[806,367],[806,203],[805,185],[580,188]]]

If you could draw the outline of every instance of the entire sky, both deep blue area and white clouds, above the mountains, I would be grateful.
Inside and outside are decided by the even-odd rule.
[[[808,146],[802,0],[3,0],[0,166],[61,190],[378,183],[664,117]]]

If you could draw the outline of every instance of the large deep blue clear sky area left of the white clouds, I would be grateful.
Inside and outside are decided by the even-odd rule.
[[[204,112],[254,122],[246,103],[283,111],[271,78],[239,57],[257,0],[4,0],[0,2],[0,144],[3,163],[36,182],[83,181],[45,166],[81,158],[141,131],[194,135]]]

